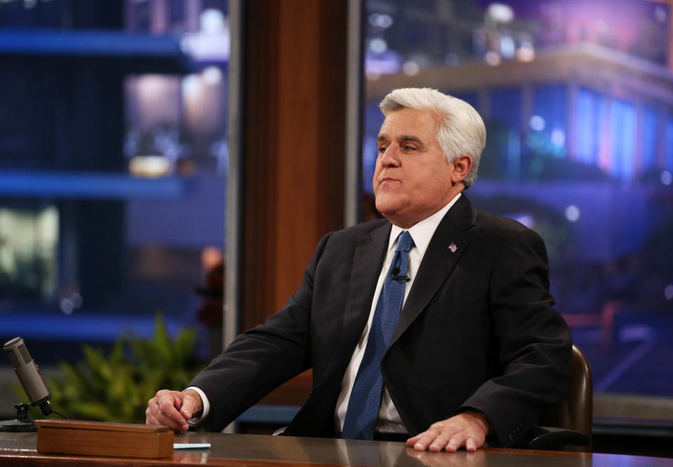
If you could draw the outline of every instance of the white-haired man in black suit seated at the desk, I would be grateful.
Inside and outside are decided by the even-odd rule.
[[[372,221],[320,240],[283,309],[240,335],[185,391],[158,391],[147,423],[221,430],[307,368],[313,390],[285,434],[510,446],[564,393],[571,335],[552,308],[545,246],[475,209],[486,131],[465,102],[390,92]],[[392,320],[392,321],[390,321]]]

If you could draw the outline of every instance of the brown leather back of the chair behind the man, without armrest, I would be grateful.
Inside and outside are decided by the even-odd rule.
[[[540,419],[541,426],[579,431],[591,439],[593,426],[593,386],[587,357],[573,345],[573,363],[568,391],[559,403],[550,407]],[[589,445],[591,450],[591,444]]]

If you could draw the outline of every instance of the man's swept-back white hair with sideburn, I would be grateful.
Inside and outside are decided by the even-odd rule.
[[[472,168],[465,176],[465,188],[477,178],[479,159],[486,144],[484,120],[473,106],[453,96],[431,88],[400,88],[388,93],[379,104],[384,116],[401,109],[433,111],[437,120],[437,143],[447,162],[461,155],[472,157]]]

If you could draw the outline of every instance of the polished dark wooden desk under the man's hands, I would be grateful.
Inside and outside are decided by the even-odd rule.
[[[175,442],[210,442],[211,449],[175,451],[170,459],[57,456],[38,454],[35,433],[0,433],[5,466],[671,466],[673,459],[616,454],[580,454],[480,449],[477,452],[416,452],[402,442],[329,440],[268,435],[185,433]]]

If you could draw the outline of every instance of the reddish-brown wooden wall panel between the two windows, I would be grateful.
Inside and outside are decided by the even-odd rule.
[[[244,2],[241,330],[285,305],[320,237],[343,225],[346,6]],[[308,384],[276,400],[301,403]]]

